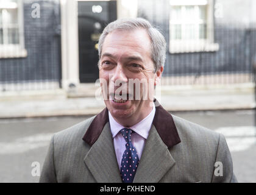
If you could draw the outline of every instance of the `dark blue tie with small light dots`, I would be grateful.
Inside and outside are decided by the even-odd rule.
[[[132,129],[121,129],[121,133],[126,140],[126,150],[121,161],[121,177],[124,183],[132,183],[136,170],[138,168],[138,153],[132,145]]]

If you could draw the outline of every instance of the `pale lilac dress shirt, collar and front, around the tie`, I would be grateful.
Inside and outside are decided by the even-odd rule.
[[[144,144],[148,138],[149,130],[151,129],[152,122],[155,116],[155,105],[152,108],[151,113],[149,113],[146,118],[142,121],[138,122],[132,127],[124,127],[113,118],[111,113],[108,111],[110,129],[113,136],[113,143],[116,152],[116,158],[118,161],[118,166],[120,169],[121,161],[123,158],[124,151],[126,150],[126,141],[124,140],[120,130],[123,128],[132,129],[134,132],[132,133],[132,144],[135,147],[136,151],[138,152],[139,160],[141,158],[141,154],[143,152]]]

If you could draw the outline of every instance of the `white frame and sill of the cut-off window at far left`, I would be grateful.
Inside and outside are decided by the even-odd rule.
[[[23,2],[17,0],[17,16],[18,16],[18,44],[0,44],[0,59],[27,57],[27,50],[24,44],[24,15]],[[1,7],[1,10],[4,9]]]

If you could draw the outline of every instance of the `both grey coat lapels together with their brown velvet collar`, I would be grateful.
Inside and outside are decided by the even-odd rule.
[[[175,164],[169,149],[180,143],[172,116],[154,100],[155,116],[133,182],[158,182]],[[83,140],[91,146],[84,163],[97,182],[122,182],[105,108],[88,127]]]

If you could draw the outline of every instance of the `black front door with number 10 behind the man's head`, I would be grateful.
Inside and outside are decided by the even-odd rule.
[[[79,79],[81,83],[99,78],[98,39],[104,27],[116,20],[116,1],[79,1]]]

